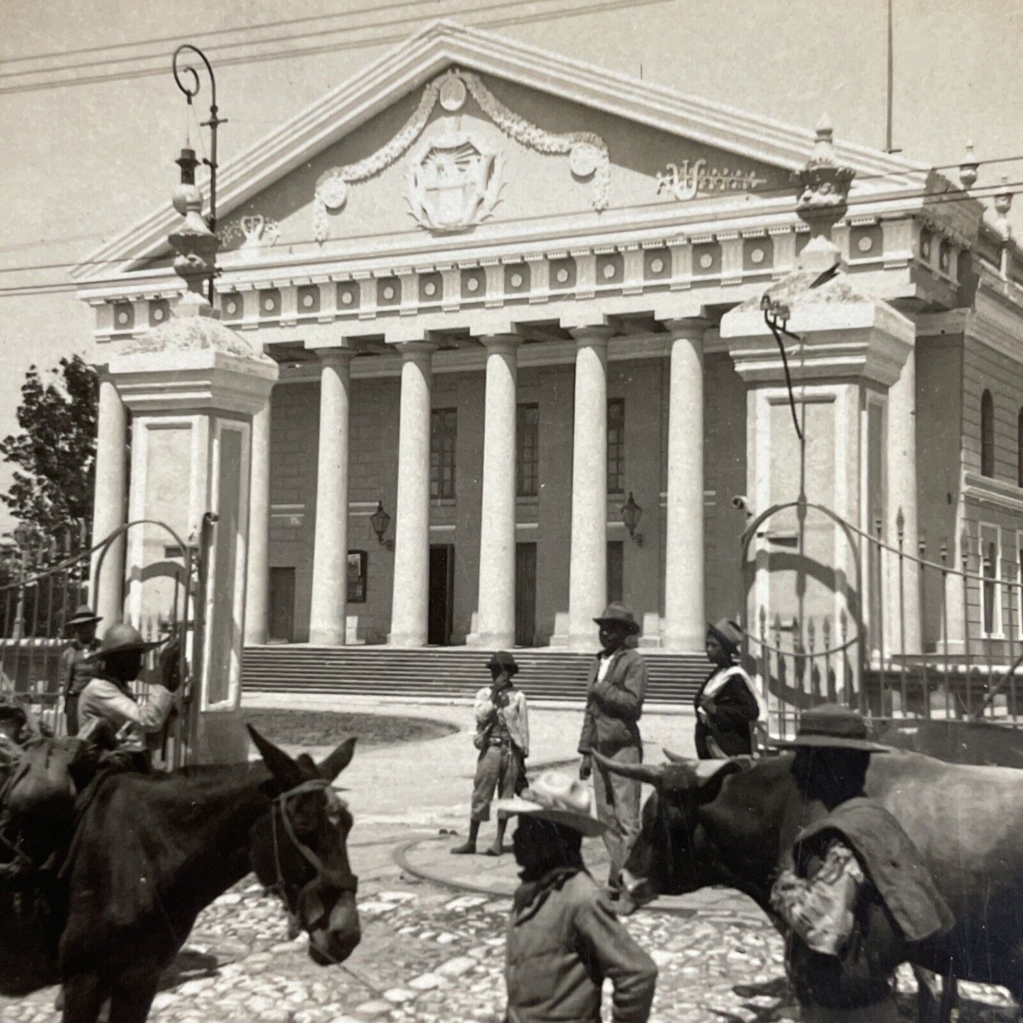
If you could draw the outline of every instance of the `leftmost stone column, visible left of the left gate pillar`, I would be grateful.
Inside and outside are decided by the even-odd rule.
[[[99,543],[125,524],[128,485],[128,411],[118,389],[105,375],[99,381],[99,409],[96,430],[96,482],[92,505],[93,543]],[[102,635],[123,614],[125,538],[120,536],[103,558],[98,579],[99,551],[92,557],[93,610],[102,618]]]

